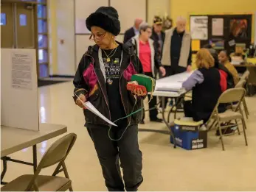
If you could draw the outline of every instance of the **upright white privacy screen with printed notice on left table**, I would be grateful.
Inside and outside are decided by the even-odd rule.
[[[35,49],[1,49],[1,125],[39,130]]]

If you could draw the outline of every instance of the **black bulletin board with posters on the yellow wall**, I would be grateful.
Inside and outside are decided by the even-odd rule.
[[[192,50],[209,44],[214,49],[235,51],[235,45],[243,43],[249,47],[252,41],[252,14],[246,15],[190,15]]]

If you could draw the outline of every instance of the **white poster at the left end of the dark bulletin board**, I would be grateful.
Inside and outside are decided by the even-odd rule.
[[[208,17],[207,16],[190,16],[190,33],[192,39],[208,39]]]

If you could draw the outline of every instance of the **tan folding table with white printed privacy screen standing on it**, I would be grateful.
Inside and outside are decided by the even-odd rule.
[[[1,49],[1,185],[12,161],[37,168],[36,145],[67,131],[66,126],[39,124],[35,49]],[[32,163],[7,155],[32,146]]]

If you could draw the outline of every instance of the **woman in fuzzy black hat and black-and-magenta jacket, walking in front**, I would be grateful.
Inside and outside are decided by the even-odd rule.
[[[127,90],[133,74],[142,74],[142,65],[132,47],[115,41],[120,33],[120,21],[113,7],[100,7],[86,19],[91,31],[90,46],[80,60],[75,74],[75,95],[83,102],[89,101],[105,117],[115,121],[142,107],[147,93]],[[75,103],[83,107],[74,96]],[[108,191],[136,191],[142,183],[142,152],[138,144],[139,113],[117,121],[111,128],[101,118],[83,109],[86,128],[103,169]],[[109,135],[108,135],[109,133]],[[121,138],[121,139],[120,139]],[[123,171],[122,182],[120,163]]]

